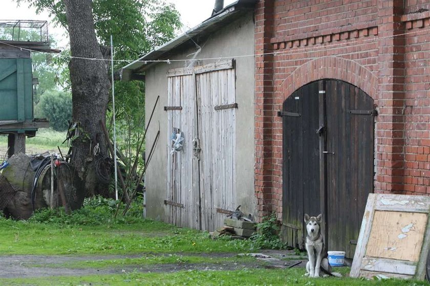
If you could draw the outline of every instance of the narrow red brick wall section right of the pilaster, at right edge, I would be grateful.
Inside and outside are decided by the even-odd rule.
[[[402,17],[406,27],[403,184],[407,193],[430,194],[430,13],[420,14],[422,19],[417,14]]]

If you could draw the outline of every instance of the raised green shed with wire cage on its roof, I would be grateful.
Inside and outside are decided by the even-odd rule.
[[[33,116],[31,52],[59,53],[51,49],[47,21],[0,21],[0,134],[8,135],[8,157],[26,151],[26,137],[49,127]]]

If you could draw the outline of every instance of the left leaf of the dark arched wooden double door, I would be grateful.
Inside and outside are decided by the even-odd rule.
[[[283,233],[303,248],[303,217],[320,209],[318,82],[295,91],[283,111]]]

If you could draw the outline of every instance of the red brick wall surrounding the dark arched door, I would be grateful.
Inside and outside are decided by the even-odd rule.
[[[257,4],[255,51],[266,54],[256,57],[255,75],[255,191],[260,216],[267,211],[282,215],[282,120],[276,111],[300,86],[322,78],[350,82],[378,106],[375,192],[430,193],[426,2]]]

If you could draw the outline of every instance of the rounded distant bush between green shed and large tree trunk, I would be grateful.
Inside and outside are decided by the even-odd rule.
[[[68,120],[72,119],[72,95],[68,92],[47,91],[41,95],[34,114],[36,117],[48,118],[56,131],[67,130]]]

